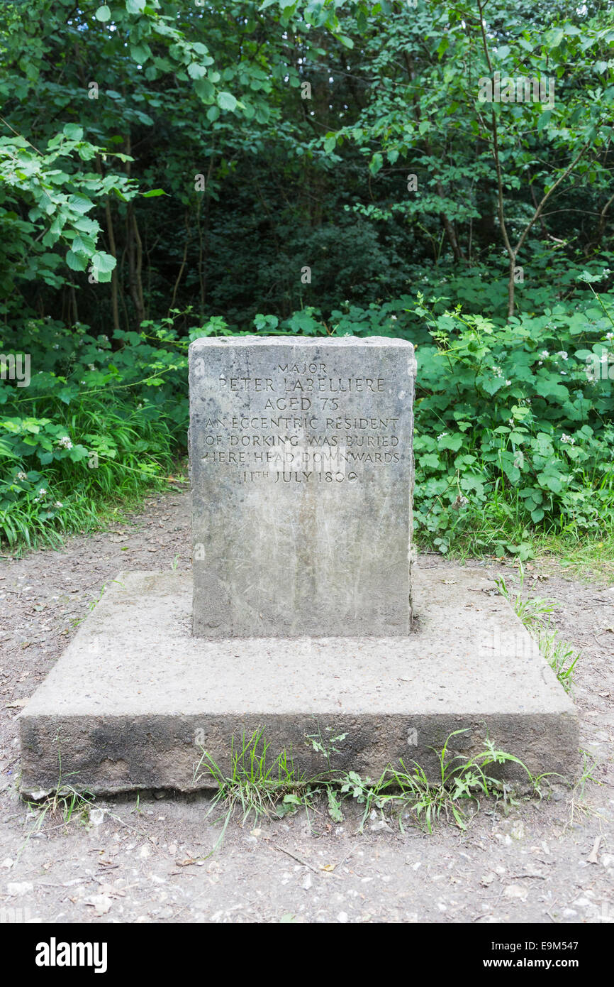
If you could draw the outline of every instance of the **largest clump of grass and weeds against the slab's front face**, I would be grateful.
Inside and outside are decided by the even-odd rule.
[[[360,830],[374,809],[381,818],[395,817],[404,831],[403,819],[412,818],[428,832],[433,832],[440,820],[465,829],[471,817],[479,811],[481,799],[495,798],[505,811],[519,801],[519,796],[507,782],[496,775],[496,766],[513,763],[524,773],[523,789],[531,795],[542,797],[546,775],[533,776],[514,755],[497,749],[490,740],[484,741],[484,749],[471,757],[452,753],[452,739],[465,729],[454,730],[448,735],[441,750],[432,748],[437,757],[437,778],[417,761],[397,766],[389,765],[375,781],[361,777],[356,771],[344,771],[333,766],[333,755],[341,752],[338,745],[347,734],[335,736],[330,728],[322,732],[319,725],[314,733],[307,734],[306,743],[324,761],[321,774],[307,777],[299,770],[293,757],[282,751],[269,757],[269,746],[259,727],[251,734],[241,735],[239,744],[233,738],[230,770],[226,773],[204,750],[194,770],[194,783],[207,779],[217,791],[207,815],[223,808],[218,821],[222,832],[216,844],[224,839],[229,822],[235,814],[241,824],[253,818],[257,824],[262,818],[280,818],[306,808],[317,811],[317,804],[325,800],[327,812],[334,822],[344,819],[344,802],[351,799],[363,808]]]

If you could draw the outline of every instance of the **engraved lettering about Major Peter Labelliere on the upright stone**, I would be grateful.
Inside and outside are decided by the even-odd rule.
[[[197,359],[195,374],[204,373]],[[247,395],[249,413],[203,420],[201,462],[236,468],[241,483],[354,483],[399,462],[398,418],[385,414],[383,377],[341,377],[324,362],[278,363],[272,377],[222,371],[216,386]],[[371,414],[344,415],[344,396],[359,394]]]

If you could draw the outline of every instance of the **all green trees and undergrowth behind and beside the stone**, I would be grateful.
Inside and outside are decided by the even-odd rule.
[[[611,529],[611,380],[584,366],[614,327],[579,275],[611,309],[614,17],[484,17],[5,0],[0,338],[33,357],[0,383],[6,540],[160,483],[189,339],[254,331],[417,343],[423,543],[525,558]],[[495,72],[554,102],[481,102]]]

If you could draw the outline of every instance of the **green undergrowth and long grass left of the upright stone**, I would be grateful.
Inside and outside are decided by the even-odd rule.
[[[19,345],[9,332],[0,341],[33,362],[28,388],[0,383],[0,537],[9,545],[57,541],[96,524],[102,502],[164,484],[187,424],[186,343],[177,346],[172,318],[112,343],[86,326],[70,334],[29,320]]]

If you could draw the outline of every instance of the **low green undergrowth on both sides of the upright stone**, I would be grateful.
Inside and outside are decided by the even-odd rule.
[[[607,259],[606,259],[607,260]],[[549,262],[558,297],[525,289],[500,311],[501,280],[453,268],[411,293],[324,321],[314,308],[253,326],[220,317],[93,336],[49,318],[0,330],[0,352],[30,354],[29,386],[0,382],[0,537],[6,551],[98,524],[111,503],[164,486],[185,454],[187,346],[199,336],[395,336],[417,346],[415,525],[440,552],[526,558],[535,543],[604,543],[614,518],[614,291],[605,261]],[[437,275],[437,276],[436,276]],[[594,289],[590,284],[594,282]],[[190,316],[187,314],[189,324]],[[5,374],[4,376],[8,376]]]

